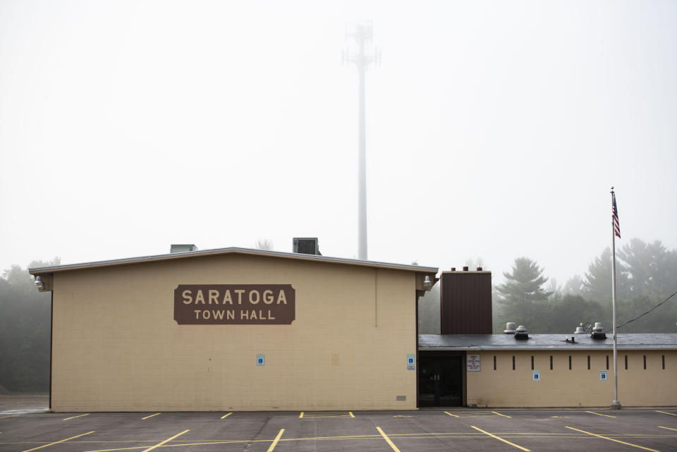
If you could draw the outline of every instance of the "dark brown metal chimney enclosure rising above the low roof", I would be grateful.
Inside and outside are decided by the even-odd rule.
[[[467,267],[465,267],[467,268]],[[492,334],[492,272],[443,271],[441,334]]]

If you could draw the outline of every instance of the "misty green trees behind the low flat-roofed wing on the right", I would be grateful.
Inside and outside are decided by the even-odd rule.
[[[486,269],[486,268],[485,268]],[[602,322],[611,331],[611,250],[606,248],[583,276],[563,286],[544,276],[528,257],[518,257],[505,281],[492,287],[493,331],[516,322],[531,333],[571,334],[583,324],[590,331]],[[439,284],[419,300],[419,331],[439,334]],[[677,250],[659,241],[633,238],[616,252],[616,321],[639,317],[677,292]],[[677,332],[677,295],[649,314],[622,326],[618,333]]]

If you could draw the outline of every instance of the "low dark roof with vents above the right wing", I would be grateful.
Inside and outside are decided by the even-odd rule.
[[[566,342],[565,338],[575,342]],[[592,339],[590,334],[530,334],[518,340],[512,334],[419,334],[419,350],[611,350],[614,339]],[[677,350],[677,334],[618,334],[619,350]]]

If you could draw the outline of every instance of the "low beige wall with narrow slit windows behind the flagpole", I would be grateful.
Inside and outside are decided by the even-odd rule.
[[[480,372],[467,372],[468,403],[479,407],[606,406],[614,400],[614,355],[611,350],[481,352]],[[494,370],[494,355],[496,370]],[[516,370],[512,369],[512,357]],[[550,356],[553,369],[550,370]],[[572,369],[569,370],[569,355]],[[590,370],[587,356],[590,355]],[[608,381],[600,381],[606,369]],[[628,355],[628,370],[624,357]],[[644,369],[644,355],[647,369]],[[665,369],[661,356],[665,355]],[[532,381],[531,357],[541,381]],[[618,400],[623,406],[677,405],[677,352],[638,350],[618,352]]]

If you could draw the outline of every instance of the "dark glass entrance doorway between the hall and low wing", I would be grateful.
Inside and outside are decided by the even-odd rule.
[[[463,355],[421,355],[418,405],[463,406]]]

